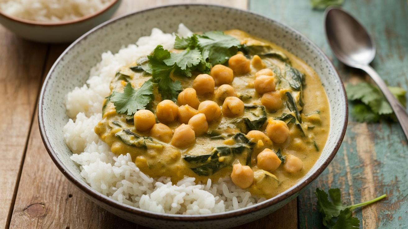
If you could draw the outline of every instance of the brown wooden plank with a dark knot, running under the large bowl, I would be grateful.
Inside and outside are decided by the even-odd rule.
[[[143,7],[187,1],[143,1]],[[154,4],[152,3],[154,2]],[[191,1],[199,2],[199,1]],[[206,1],[208,2],[208,1]],[[213,1],[217,3],[217,1]],[[243,3],[244,2],[244,3]],[[244,8],[246,1],[225,1],[224,4]],[[132,0],[123,2],[120,13],[141,9]],[[47,70],[63,51],[52,46]],[[249,228],[296,228],[297,202],[293,200],[271,215],[248,223]],[[32,125],[20,187],[11,219],[11,228],[145,228],[118,218],[85,198],[53,165],[38,133],[38,120]]]

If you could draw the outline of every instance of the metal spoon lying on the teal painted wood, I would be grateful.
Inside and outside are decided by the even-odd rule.
[[[355,18],[340,8],[326,9],[326,38],[335,56],[344,64],[362,69],[378,85],[387,98],[408,138],[408,114],[392,95],[378,73],[369,65],[375,57],[375,43]]]

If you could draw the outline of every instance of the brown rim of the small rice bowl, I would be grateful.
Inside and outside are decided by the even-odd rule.
[[[67,24],[77,24],[83,21],[86,21],[88,19],[91,18],[95,18],[98,15],[104,13],[105,11],[109,10],[112,6],[114,6],[116,3],[121,2],[122,0],[112,0],[111,2],[109,2],[109,4],[88,15],[82,16],[80,18],[76,18],[76,19],[72,19],[72,20],[64,20],[64,21],[60,21],[60,22],[40,22],[40,21],[34,21],[34,20],[28,20],[28,19],[23,19],[23,18],[18,18],[16,16],[12,16],[9,15],[7,13],[4,13],[4,11],[0,10],[0,16],[3,16],[4,18],[8,18],[11,21],[20,23],[20,24],[26,24],[26,25],[33,25],[33,26],[44,26],[44,27],[54,27],[54,26],[63,26],[63,25],[67,25]]]

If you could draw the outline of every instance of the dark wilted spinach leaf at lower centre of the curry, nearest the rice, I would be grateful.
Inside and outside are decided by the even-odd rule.
[[[210,176],[226,166],[232,166],[235,157],[242,154],[246,156],[246,165],[251,165],[251,153],[255,143],[241,132],[236,133],[232,139],[235,141],[234,145],[220,145],[215,147],[211,154],[185,154],[183,158],[193,165],[191,170],[199,176]]]

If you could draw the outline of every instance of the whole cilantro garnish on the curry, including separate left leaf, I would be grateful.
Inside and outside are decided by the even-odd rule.
[[[108,101],[113,102],[116,112],[133,115],[137,110],[146,109],[154,100],[153,89],[157,87],[162,100],[176,102],[183,88],[180,80],[173,80],[173,75],[191,77],[192,71],[209,73],[211,64],[224,64],[237,53],[240,45],[239,40],[220,31],[194,34],[188,38],[176,36],[174,47],[182,51],[170,52],[158,45],[147,56],[148,64],[131,67],[133,71],[143,69],[152,78],[139,89],[126,84],[123,93],[113,91]]]

